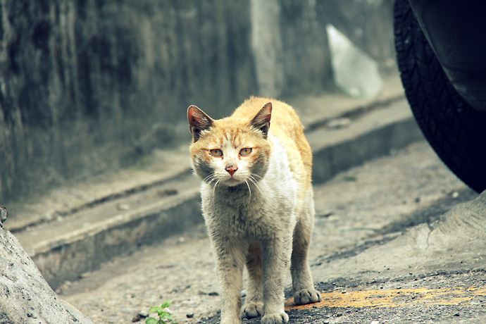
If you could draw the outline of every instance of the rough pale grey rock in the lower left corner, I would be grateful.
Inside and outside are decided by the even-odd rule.
[[[1,221],[6,211],[1,208]],[[0,223],[1,225],[1,223]],[[18,239],[0,227],[0,323],[92,323],[58,297]]]

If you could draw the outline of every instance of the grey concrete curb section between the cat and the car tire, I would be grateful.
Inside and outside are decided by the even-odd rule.
[[[307,135],[314,158],[313,182],[325,182],[341,171],[424,139],[405,100],[366,114],[352,127],[316,130]]]

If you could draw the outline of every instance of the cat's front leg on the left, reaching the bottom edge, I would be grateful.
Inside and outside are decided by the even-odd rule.
[[[213,240],[216,274],[220,285],[221,324],[241,323],[242,273],[247,247]]]

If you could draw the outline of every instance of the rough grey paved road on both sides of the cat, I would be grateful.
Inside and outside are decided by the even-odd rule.
[[[449,242],[441,236],[447,228],[434,225],[478,194],[428,144],[340,173],[315,191],[311,265],[323,301],[295,308],[289,299],[291,323],[486,323],[482,241],[471,235],[469,245]],[[132,323],[168,299],[179,323],[218,323],[217,291],[198,227],[66,282],[61,297],[95,323]]]

